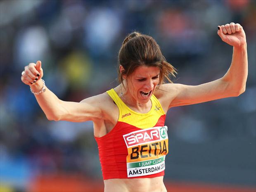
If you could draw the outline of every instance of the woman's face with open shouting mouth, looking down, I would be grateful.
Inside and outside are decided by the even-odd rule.
[[[159,83],[159,72],[155,66],[138,66],[126,80],[131,100],[147,103]]]

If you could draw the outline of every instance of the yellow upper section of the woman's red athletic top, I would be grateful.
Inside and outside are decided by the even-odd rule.
[[[137,128],[145,129],[152,128],[156,125],[159,118],[164,115],[164,110],[159,100],[152,95],[150,98],[152,107],[149,112],[142,114],[130,109],[117,95],[114,89],[108,90],[107,94],[114,100],[117,107],[119,108],[119,119],[118,121],[128,123]]]

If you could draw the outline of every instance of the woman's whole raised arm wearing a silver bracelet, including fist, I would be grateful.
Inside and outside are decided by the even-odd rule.
[[[41,62],[38,61],[36,64],[30,63],[28,66],[25,66],[21,81],[29,85],[33,92],[41,91],[39,95],[35,94],[35,97],[47,119],[81,122],[102,118],[100,95],[90,97],[82,102],[62,101],[47,87],[44,87],[45,89],[42,90],[42,77],[43,69]]]

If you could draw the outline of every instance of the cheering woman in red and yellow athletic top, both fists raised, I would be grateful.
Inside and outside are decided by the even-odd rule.
[[[233,46],[232,63],[220,79],[197,86],[171,83],[175,69],[150,36],[131,33],[119,51],[116,88],[79,103],[65,102],[45,87],[41,62],[25,66],[21,81],[47,119],[93,121],[105,192],[164,192],[168,153],[165,114],[171,107],[235,97],[245,90],[247,44],[240,24],[218,26],[218,35]],[[169,83],[163,84],[164,79]]]

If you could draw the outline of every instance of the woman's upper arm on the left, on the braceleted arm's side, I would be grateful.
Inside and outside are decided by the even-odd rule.
[[[102,95],[89,97],[81,102],[59,101],[56,120],[82,122],[102,119]]]

